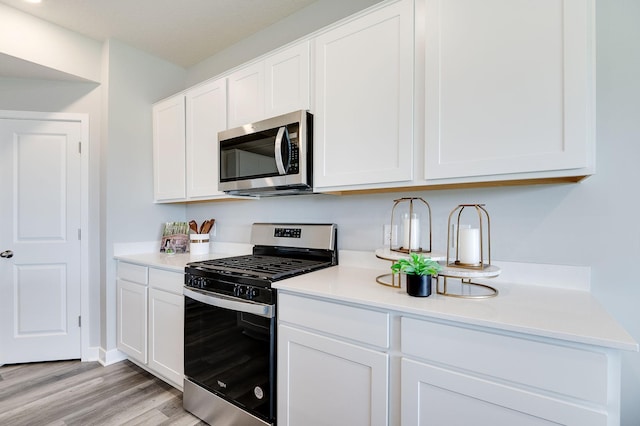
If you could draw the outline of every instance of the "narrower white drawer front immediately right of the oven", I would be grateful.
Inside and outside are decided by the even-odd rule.
[[[389,314],[280,293],[278,319],[324,333],[389,347]]]

